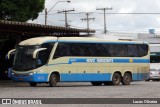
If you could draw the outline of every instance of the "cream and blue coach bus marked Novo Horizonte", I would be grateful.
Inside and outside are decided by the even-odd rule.
[[[8,57],[10,53],[8,52]],[[147,78],[149,46],[141,41],[92,37],[37,37],[15,49],[12,77],[30,86],[58,82],[91,82],[93,86],[129,85]]]

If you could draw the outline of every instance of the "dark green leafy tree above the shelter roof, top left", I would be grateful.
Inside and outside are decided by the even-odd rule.
[[[26,22],[38,17],[45,0],[0,0],[0,19]]]

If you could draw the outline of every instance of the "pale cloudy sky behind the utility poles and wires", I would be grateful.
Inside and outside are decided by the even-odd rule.
[[[85,12],[89,12],[89,18],[95,18],[95,20],[89,21],[90,29],[95,29],[96,33],[101,34],[104,32],[104,16],[102,10],[96,9],[112,7],[112,10],[106,10],[107,31],[143,33],[148,32],[148,29],[155,29],[157,33],[160,33],[160,0],[70,0],[70,3],[58,1],[66,0],[45,1],[45,7],[48,10],[56,4],[48,13],[47,25],[65,26],[65,15],[57,12],[74,9],[75,11],[69,12],[67,15],[70,27],[81,29],[87,28],[87,22],[82,21],[81,19],[86,18]],[[39,13],[39,17],[36,20],[29,22],[44,24],[44,17],[44,11],[42,11]]]

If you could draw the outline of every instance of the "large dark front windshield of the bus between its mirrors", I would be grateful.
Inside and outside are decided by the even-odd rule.
[[[36,68],[36,59],[33,59],[33,52],[39,46],[18,46],[13,63],[14,70],[30,70]]]

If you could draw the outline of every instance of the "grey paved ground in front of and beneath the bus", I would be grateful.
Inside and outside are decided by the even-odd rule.
[[[28,83],[0,81],[0,98],[160,98],[160,82],[132,82],[129,86],[92,86],[90,83],[59,83],[57,87],[39,84],[30,87]],[[1,106],[1,105],[0,105]],[[27,105],[24,105],[27,106]],[[36,106],[36,105],[35,105]],[[49,105],[52,106],[53,105]],[[54,105],[57,107],[128,107],[132,105]],[[136,105],[150,107],[151,105]],[[159,106],[159,105],[154,105]],[[18,107],[18,106],[17,106]],[[40,106],[39,106],[40,107]]]

